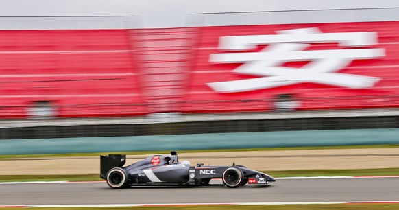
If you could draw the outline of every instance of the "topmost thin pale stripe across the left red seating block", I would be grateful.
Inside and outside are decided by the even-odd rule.
[[[38,50],[38,51],[0,51],[0,54],[104,54],[104,53],[126,53],[130,49],[119,50]]]

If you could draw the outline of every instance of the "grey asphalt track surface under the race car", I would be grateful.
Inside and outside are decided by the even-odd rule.
[[[0,205],[399,201],[399,178],[279,179],[267,187],[132,187],[101,183],[1,184]]]

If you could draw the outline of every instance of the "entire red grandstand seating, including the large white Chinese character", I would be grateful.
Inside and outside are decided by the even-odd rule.
[[[58,117],[267,111],[276,108],[282,95],[298,102],[300,110],[398,107],[398,25],[1,30],[0,117],[27,117],[29,106],[40,101],[51,102]],[[364,36],[363,43],[348,44],[358,36]],[[256,37],[264,40],[256,43]],[[237,40],[246,42],[246,48],[234,49]],[[293,48],[283,45],[280,57],[274,57],[273,46],[281,43]],[[307,57],[298,58],[302,54]],[[324,74],[311,78],[310,64],[323,59],[335,61],[326,64],[330,70],[314,67]],[[335,76],[343,76],[342,81],[332,81]],[[363,83],[354,82],[358,79]],[[220,82],[239,80],[247,82],[221,87]]]

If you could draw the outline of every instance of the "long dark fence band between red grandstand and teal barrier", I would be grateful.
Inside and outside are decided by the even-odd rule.
[[[256,116],[256,115],[254,115]],[[234,117],[231,117],[234,118]],[[238,118],[238,117],[237,117]],[[73,119],[66,119],[72,122]],[[36,122],[40,122],[37,120]],[[102,124],[100,124],[102,122]],[[207,121],[176,121],[162,123],[119,123],[118,119],[99,119],[85,123],[51,124],[0,128],[0,139],[43,139],[66,137],[114,137],[143,135],[184,135],[222,132],[272,132],[291,130],[340,130],[365,128],[399,128],[399,115],[368,117],[302,117],[280,119],[229,119]],[[25,125],[25,126],[24,126]]]

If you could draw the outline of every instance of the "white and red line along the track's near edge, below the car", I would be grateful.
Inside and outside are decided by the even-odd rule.
[[[388,204],[399,203],[393,201],[319,201],[319,202],[188,202],[188,203],[159,203],[159,204],[104,204],[104,205],[0,205],[0,207],[20,208],[62,208],[62,207],[167,207],[193,205],[335,205],[335,204]]]

